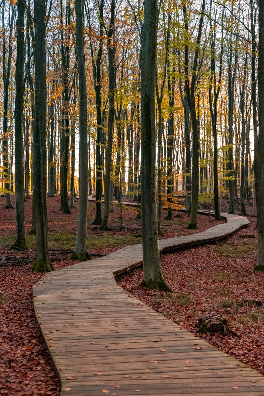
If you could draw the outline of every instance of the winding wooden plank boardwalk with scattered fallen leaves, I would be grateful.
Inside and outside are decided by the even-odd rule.
[[[227,223],[160,240],[160,250],[228,236]],[[164,318],[117,286],[113,274],[142,261],[142,246],[52,273],[33,290],[43,337],[61,378],[61,396],[264,396],[264,377]]]

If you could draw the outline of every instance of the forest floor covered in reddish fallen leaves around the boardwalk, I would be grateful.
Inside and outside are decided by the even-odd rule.
[[[15,209],[4,209],[0,197],[0,395],[59,395],[59,379],[41,337],[34,309],[32,286],[43,274],[32,272],[35,237],[31,229],[31,203],[25,203],[28,251],[11,248],[15,238]],[[78,201],[76,202],[78,206]],[[110,213],[110,231],[92,225],[95,204],[88,205],[87,248],[92,258],[109,254],[128,244],[141,242],[141,222],[136,208],[123,207]],[[49,249],[53,268],[74,265],[70,252],[75,245],[78,209],[62,213],[60,197],[47,197]],[[222,208],[222,210],[224,210]],[[249,214],[252,204],[247,206]],[[187,215],[173,212],[173,220],[162,213],[162,238],[201,232],[213,227],[213,217],[198,215],[198,230],[187,230]],[[253,270],[257,255],[256,217],[249,227],[227,241],[162,256],[162,271],[172,294],[138,289],[142,269],[122,275],[118,284],[141,301],[180,326],[197,332],[198,318],[221,314],[236,335],[200,334],[209,343],[264,374],[264,308],[250,300],[264,302],[264,274]],[[249,238],[251,235],[251,238]],[[247,236],[241,238],[241,236]],[[255,238],[253,238],[253,236]]]

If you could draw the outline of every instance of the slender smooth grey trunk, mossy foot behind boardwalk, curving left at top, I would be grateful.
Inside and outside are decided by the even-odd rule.
[[[85,76],[85,55],[83,46],[82,0],[75,0],[76,50],[79,73],[79,212],[77,237],[71,258],[79,261],[89,260],[86,248],[87,199],[88,199],[88,143],[87,143],[87,91]]]

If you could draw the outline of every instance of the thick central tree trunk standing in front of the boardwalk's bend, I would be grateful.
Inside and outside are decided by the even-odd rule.
[[[141,60],[141,216],[143,246],[142,285],[170,291],[160,266],[156,208],[155,67],[157,0],[144,1]]]

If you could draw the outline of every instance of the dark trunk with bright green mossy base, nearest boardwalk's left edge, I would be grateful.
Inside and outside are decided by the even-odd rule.
[[[34,143],[36,194],[36,258],[32,270],[37,272],[53,270],[48,251],[48,220],[46,203],[47,175],[47,86],[46,86],[46,45],[45,45],[45,0],[34,0],[35,25],[35,105],[36,132]]]

